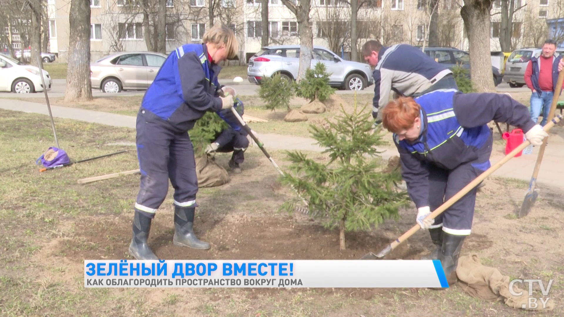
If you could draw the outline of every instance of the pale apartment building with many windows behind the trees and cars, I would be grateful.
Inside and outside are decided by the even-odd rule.
[[[294,0],[298,1],[298,0]],[[431,12],[430,0],[359,0],[358,41],[350,43],[350,7],[341,0],[312,0],[310,26],[314,45],[326,46],[349,58],[351,45],[360,50],[367,39],[377,38],[383,43],[427,45]],[[564,0],[510,0],[513,14],[512,46],[534,46],[535,38],[548,34],[547,19],[563,17]],[[92,60],[114,51],[146,51],[155,34],[144,24],[143,3],[152,0],[90,0]],[[561,3],[560,3],[561,2]],[[68,55],[70,2],[48,0],[53,6],[50,14],[51,51],[65,61]],[[240,58],[248,60],[261,49],[261,0],[167,0],[166,51],[183,43],[197,43],[210,25],[209,5],[214,7],[214,23],[230,25],[239,37]],[[468,50],[464,23],[460,17],[462,0],[440,0],[439,45]],[[156,9],[151,7],[149,11]],[[564,10],[563,10],[564,11]],[[150,18],[150,17],[149,17]],[[490,46],[499,51],[501,2],[491,10]],[[554,27],[556,28],[556,27]],[[564,29],[564,28],[563,28]],[[544,33],[543,33],[544,32]],[[154,32],[153,32],[154,33]],[[298,44],[299,30],[296,16],[281,0],[268,0],[268,37],[270,45]],[[540,39],[539,39],[540,40]]]

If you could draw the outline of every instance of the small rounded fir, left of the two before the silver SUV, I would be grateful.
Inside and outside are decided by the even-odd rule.
[[[292,81],[276,73],[272,77],[263,78],[258,95],[266,103],[267,109],[274,111],[276,108],[286,107],[290,112],[290,99],[294,95],[294,85]]]

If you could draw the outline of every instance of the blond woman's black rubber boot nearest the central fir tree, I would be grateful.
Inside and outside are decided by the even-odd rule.
[[[174,206],[174,238],[173,244],[188,246],[193,249],[208,250],[210,244],[198,240],[193,231],[194,212],[193,207]]]

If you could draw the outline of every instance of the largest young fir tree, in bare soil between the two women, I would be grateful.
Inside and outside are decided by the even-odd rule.
[[[293,186],[309,205],[310,214],[324,221],[325,227],[339,228],[340,249],[346,248],[345,231],[369,230],[385,219],[399,217],[398,210],[407,205],[406,192],[397,191],[398,170],[386,173],[381,170],[374,148],[382,140],[381,127],[373,130],[371,114],[356,107],[347,113],[341,106],[338,121],[327,121],[329,129],[310,125],[312,137],[327,149],[331,160],[315,162],[301,152],[288,152],[293,175],[281,177],[284,184]],[[283,209],[294,210],[299,200],[285,202]]]

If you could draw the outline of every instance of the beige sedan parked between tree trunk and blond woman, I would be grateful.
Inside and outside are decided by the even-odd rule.
[[[93,89],[104,93],[143,90],[151,86],[166,55],[157,52],[118,52],[90,63]]]

